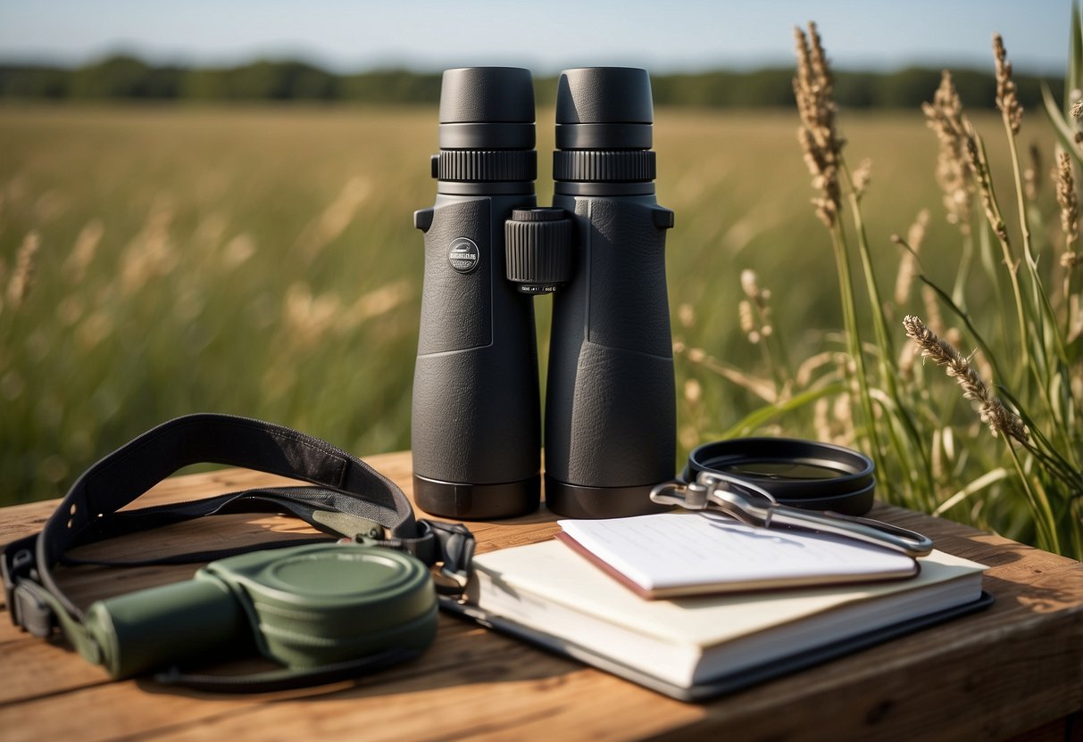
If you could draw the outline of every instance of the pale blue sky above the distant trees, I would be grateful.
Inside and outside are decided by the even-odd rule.
[[[792,27],[814,19],[837,68],[988,68],[1000,31],[1017,69],[1064,74],[1070,12],[1071,0],[0,0],[0,59],[754,68],[791,65]]]

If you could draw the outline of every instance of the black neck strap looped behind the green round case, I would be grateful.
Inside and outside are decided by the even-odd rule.
[[[117,513],[197,463],[240,466],[314,487],[260,488]],[[193,414],[164,423],[99,461],[73,485],[40,533],[8,544],[2,567],[12,620],[44,635],[58,619],[82,619],[51,572],[73,546],[222,512],[289,513],[327,533],[401,548],[430,566],[442,562],[442,574],[459,586],[473,554],[466,528],[415,520],[409,500],[394,482],[326,441],[258,420]],[[188,556],[200,560],[207,554]],[[39,591],[19,592],[21,581],[43,587],[58,606],[35,599]],[[57,608],[69,615],[56,615]]]

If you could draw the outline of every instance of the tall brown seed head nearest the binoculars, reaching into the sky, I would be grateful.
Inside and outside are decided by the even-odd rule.
[[[820,191],[820,196],[812,199],[817,216],[831,228],[838,218],[838,160],[844,145],[835,130],[834,80],[815,24],[809,23],[808,36],[795,27],[794,40],[797,51],[794,97],[801,119],[797,140],[812,175],[812,185]]]

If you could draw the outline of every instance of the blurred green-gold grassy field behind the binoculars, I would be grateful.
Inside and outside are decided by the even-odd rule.
[[[26,241],[39,246],[29,292],[0,306],[0,503],[61,494],[96,458],[194,411],[279,422],[358,454],[407,448],[422,273],[412,212],[433,199],[435,121],[434,108],[0,108],[0,287]],[[548,202],[551,111],[538,121]],[[975,122],[1004,161],[999,119]],[[658,200],[677,214],[682,452],[761,406],[755,380],[773,385],[765,345],[740,328],[742,270],[770,290],[770,340],[794,369],[843,347],[796,128],[792,112],[656,111]],[[924,269],[951,286],[958,234],[921,114],[844,111],[841,129],[852,164],[872,158],[863,208],[887,294],[901,254],[889,237],[923,208]],[[1052,137],[1038,116],[1020,137],[1031,141],[1046,182]],[[1035,208],[1052,214],[1049,190]],[[912,301],[891,316],[923,314]],[[544,357],[547,300],[537,306]],[[958,434],[984,435],[970,423]],[[818,435],[807,411],[769,424]]]

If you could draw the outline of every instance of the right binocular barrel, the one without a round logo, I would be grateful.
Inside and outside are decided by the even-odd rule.
[[[546,394],[546,504],[614,518],[657,511],[673,476],[676,398],[666,230],[654,197],[647,70],[564,71],[553,206],[574,223],[571,281],[553,296]]]

